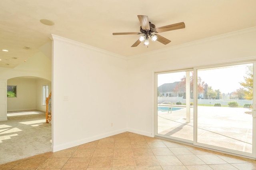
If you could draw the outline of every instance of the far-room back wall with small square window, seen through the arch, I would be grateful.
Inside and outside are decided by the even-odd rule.
[[[17,97],[7,98],[7,111],[36,109],[36,79],[8,79],[7,85],[17,85]]]

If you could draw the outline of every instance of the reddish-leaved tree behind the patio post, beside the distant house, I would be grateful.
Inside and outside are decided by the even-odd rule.
[[[180,79],[180,83],[178,83],[174,87],[174,91],[186,91],[186,76]],[[198,93],[204,93],[204,81],[202,81],[201,77],[198,77]],[[194,88],[194,73],[192,72],[192,75],[190,76],[190,98],[194,98],[193,93]]]

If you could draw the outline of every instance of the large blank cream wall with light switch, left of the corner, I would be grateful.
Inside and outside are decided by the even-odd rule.
[[[53,40],[53,151],[126,131],[127,60],[58,36]]]

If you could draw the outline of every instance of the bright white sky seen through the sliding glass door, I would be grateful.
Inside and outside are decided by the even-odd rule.
[[[246,66],[252,64],[236,65],[232,67],[217,67],[208,70],[198,70],[198,77],[212,87],[213,90],[220,89],[221,93],[231,93],[242,88],[239,82],[244,82]],[[185,72],[158,74],[158,86],[164,83],[180,81],[186,75]]]

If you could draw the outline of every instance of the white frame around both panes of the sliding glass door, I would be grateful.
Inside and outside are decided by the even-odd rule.
[[[241,152],[241,151],[235,151],[231,149],[226,149],[226,148],[220,148],[218,146],[212,146],[212,145],[207,145],[207,144],[202,144],[197,142],[197,123],[198,123],[198,113],[197,113],[197,104],[198,104],[198,87],[197,87],[197,81],[198,81],[198,76],[197,76],[197,70],[198,69],[204,69],[204,68],[212,68],[212,67],[226,67],[226,66],[232,66],[232,65],[240,65],[240,64],[248,64],[248,63],[253,63],[253,75],[256,75],[256,60],[246,60],[246,61],[234,61],[231,63],[220,63],[220,64],[214,64],[214,65],[207,65],[207,66],[197,66],[197,67],[190,67],[190,68],[185,68],[185,69],[177,69],[177,70],[170,70],[170,71],[156,71],[154,72],[154,136],[159,137],[159,138],[164,138],[167,140],[172,140],[184,144],[189,144],[192,146],[196,146],[199,148],[206,148],[209,150],[216,150],[218,152],[224,152],[228,154],[233,154],[233,155],[238,155],[238,156],[243,156],[243,157],[248,157],[252,159],[256,159],[256,118],[253,119],[253,127],[252,127],[252,153],[246,153],[246,152]],[[193,124],[193,141],[190,140],[185,140],[185,139],[180,139],[176,137],[171,137],[171,136],[164,136],[162,134],[158,134],[158,113],[157,113],[157,107],[158,107],[158,94],[157,94],[157,86],[158,86],[158,75],[159,74],[165,74],[165,73],[175,73],[175,72],[181,72],[181,71],[193,71],[194,74],[194,108],[193,108],[193,114],[194,114],[194,124]],[[254,84],[254,90],[253,90],[253,112],[252,115],[255,115],[256,117],[256,79],[253,79],[253,84]]]

